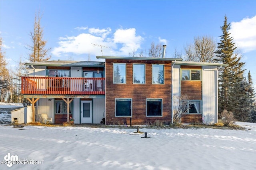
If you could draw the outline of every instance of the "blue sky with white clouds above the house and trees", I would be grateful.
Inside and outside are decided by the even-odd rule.
[[[184,51],[196,36],[222,35],[224,16],[256,84],[256,1],[61,1],[0,0],[0,36],[10,68],[26,61],[35,14],[40,9],[51,60],[96,61],[96,55],[128,56],[167,45],[166,57]],[[93,45],[96,44],[96,45]],[[101,47],[102,45],[102,52]],[[247,74],[246,74],[247,76]]]

